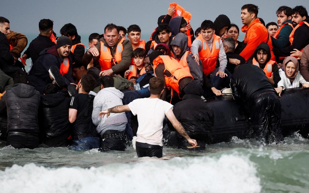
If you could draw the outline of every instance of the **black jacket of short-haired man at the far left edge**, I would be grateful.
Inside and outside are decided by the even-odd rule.
[[[14,64],[14,57],[10,53],[10,44],[6,35],[0,31],[0,69],[6,72]]]

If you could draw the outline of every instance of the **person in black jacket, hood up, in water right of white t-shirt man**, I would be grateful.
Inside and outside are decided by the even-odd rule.
[[[190,82],[184,87],[184,93],[182,101],[174,105],[173,112],[188,135],[196,139],[200,147],[196,147],[195,150],[203,150],[205,149],[206,139],[210,135],[214,113],[211,109],[208,109],[201,99],[204,91],[198,83]],[[191,146],[188,141],[180,137],[179,148],[187,149],[188,146]]]

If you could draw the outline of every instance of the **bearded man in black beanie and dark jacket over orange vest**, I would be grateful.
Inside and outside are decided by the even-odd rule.
[[[29,73],[29,82],[41,94],[46,84],[53,83],[61,89],[74,82],[72,58],[69,56],[71,46],[71,40],[66,36],[61,36],[57,40],[57,45],[44,49],[33,64]]]

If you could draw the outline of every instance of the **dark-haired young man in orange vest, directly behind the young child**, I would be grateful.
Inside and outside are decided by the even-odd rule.
[[[145,40],[141,40],[141,28],[138,25],[133,24],[128,27],[127,37],[132,44],[133,51],[136,48],[145,49],[146,42]]]

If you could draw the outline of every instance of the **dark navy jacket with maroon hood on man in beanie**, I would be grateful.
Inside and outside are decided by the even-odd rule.
[[[57,66],[60,69],[63,58],[59,57],[56,46],[44,49],[40,53],[40,57],[33,64],[29,75],[35,76],[41,79],[40,85],[46,85],[52,83],[53,81],[49,78],[49,69],[51,66]],[[72,75],[72,58],[69,56],[69,71],[63,76],[65,85],[70,85],[71,82],[74,82]],[[34,83],[34,82],[32,82]]]

